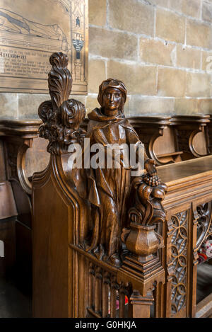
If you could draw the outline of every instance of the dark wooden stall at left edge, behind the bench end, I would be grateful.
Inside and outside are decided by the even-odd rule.
[[[13,202],[13,212],[4,215],[4,224],[10,235],[9,248],[13,252],[11,267],[18,285],[23,290],[30,290],[32,283],[32,214],[31,214],[31,181],[35,170],[47,166],[46,142],[38,138],[40,120],[0,120],[0,153],[1,181],[11,188],[10,198],[2,191],[4,207]],[[3,183],[3,184],[4,184]],[[6,185],[1,186],[2,190]],[[4,198],[4,200],[3,200]],[[12,203],[11,203],[12,204]],[[2,214],[3,209],[0,213]],[[2,217],[1,217],[2,219]],[[1,222],[3,225],[3,223]],[[4,228],[5,228],[4,227]],[[4,230],[0,231],[4,236]],[[8,255],[6,252],[5,260]],[[2,260],[3,261],[3,260]]]

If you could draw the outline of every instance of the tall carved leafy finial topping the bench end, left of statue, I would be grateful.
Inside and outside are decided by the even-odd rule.
[[[49,139],[47,151],[52,154],[65,153],[69,144],[81,142],[83,135],[79,126],[86,109],[80,101],[68,99],[72,87],[68,61],[62,52],[53,53],[49,58],[52,64],[48,78],[51,101],[45,101],[38,108],[38,115],[44,122],[40,127],[40,137]]]

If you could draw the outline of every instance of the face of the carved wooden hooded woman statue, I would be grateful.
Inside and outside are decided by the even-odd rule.
[[[107,88],[103,94],[105,114],[117,113],[122,105],[122,91],[118,88]]]

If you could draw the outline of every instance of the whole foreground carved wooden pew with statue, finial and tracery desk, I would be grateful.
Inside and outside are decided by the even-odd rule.
[[[33,316],[181,318],[203,316],[203,311],[210,315],[211,295],[196,306],[196,270],[201,245],[212,236],[212,156],[158,169],[146,159],[143,175],[131,181],[130,197],[122,205],[122,209],[127,207],[129,219],[124,223],[123,214],[121,229],[117,222],[121,222],[120,214],[111,202],[114,196],[109,181],[115,176],[108,180],[110,204],[105,205],[104,196],[96,208],[94,198],[101,198],[98,188],[104,180],[101,173],[99,181],[95,178],[98,173],[89,173],[87,179],[93,183],[89,186],[84,168],[79,171],[70,163],[76,156],[71,144],[85,137],[80,127],[85,108],[68,99],[71,75],[67,60],[62,53],[50,58],[51,101],[39,108],[43,121],[40,134],[49,139],[51,156],[48,167],[33,176]],[[57,91],[55,86],[63,88]],[[99,101],[111,110],[108,95],[123,107],[123,82],[109,79],[100,86]],[[111,124],[119,123],[122,137],[125,127],[128,139],[135,141],[134,130],[124,118],[107,115],[112,116],[107,122],[105,113],[102,119],[102,113],[95,112],[89,118],[87,137],[94,132],[95,137],[104,139],[98,130],[106,128],[107,134]],[[93,127],[100,122],[98,117],[103,123]],[[113,135],[107,139],[111,138]],[[105,215],[103,209],[107,210]],[[112,229],[108,234],[108,227],[99,220],[112,214],[110,221],[116,221],[119,233],[110,243],[105,238]],[[120,239],[122,246],[113,246]],[[112,255],[107,254],[108,247],[114,250]]]

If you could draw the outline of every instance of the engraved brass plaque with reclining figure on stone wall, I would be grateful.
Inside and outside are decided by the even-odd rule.
[[[88,0],[0,0],[0,91],[48,93],[53,52],[69,56],[73,94],[87,94]]]

